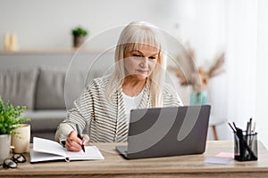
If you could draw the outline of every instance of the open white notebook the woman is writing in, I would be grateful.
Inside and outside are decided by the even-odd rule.
[[[66,161],[104,159],[96,146],[85,146],[85,152],[83,150],[71,152],[58,142],[38,137],[33,138],[33,149],[29,151],[29,156],[31,163],[61,159]]]

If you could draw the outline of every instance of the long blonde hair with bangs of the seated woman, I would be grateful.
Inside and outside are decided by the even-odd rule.
[[[144,21],[133,21],[121,32],[114,54],[115,67],[106,88],[106,98],[108,101],[111,100],[113,93],[121,88],[126,75],[123,62],[125,54],[137,50],[142,45],[150,45],[159,49],[157,65],[152,74],[147,78],[147,82],[150,84],[153,107],[163,106],[162,89],[166,67],[163,55],[163,36],[158,28]]]

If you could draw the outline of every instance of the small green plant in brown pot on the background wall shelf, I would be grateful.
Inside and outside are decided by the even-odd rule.
[[[73,36],[73,47],[80,47],[85,42],[85,37],[88,35],[88,30],[85,28],[73,28],[71,30]]]

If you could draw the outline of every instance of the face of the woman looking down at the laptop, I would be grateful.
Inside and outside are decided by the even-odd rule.
[[[142,45],[137,50],[126,53],[124,58],[124,67],[126,76],[136,77],[138,80],[144,80],[149,77],[158,60],[159,49]]]

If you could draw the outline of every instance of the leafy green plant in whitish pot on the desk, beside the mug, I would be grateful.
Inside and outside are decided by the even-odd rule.
[[[25,106],[13,106],[10,101],[4,103],[0,96],[0,165],[9,157],[11,135],[17,135],[14,130],[29,121],[28,117],[21,117],[25,110]]]

